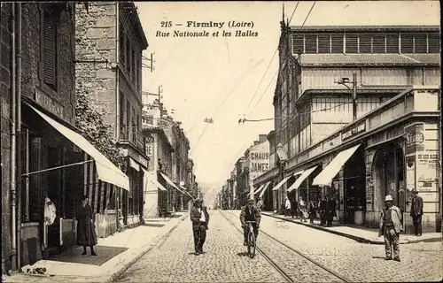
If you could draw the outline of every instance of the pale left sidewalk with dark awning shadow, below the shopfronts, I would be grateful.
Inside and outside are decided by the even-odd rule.
[[[22,268],[24,273],[4,276],[4,282],[112,282],[129,266],[151,250],[186,219],[188,212],[176,212],[168,218],[145,219],[133,229],[99,238],[94,250],[98,256],[81,256],[82,247],[69,249],[34,265]],[[27,269],[45,268],[44,275],[27,274]]]

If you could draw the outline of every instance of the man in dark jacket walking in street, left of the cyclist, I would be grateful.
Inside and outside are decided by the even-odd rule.
[[[209,213],[206,206],[203,206],[201,199],[194,201],[194,206],[190,210],[190,221],[192,221],[192,232],[194,234],[195,254],[203,254],[203,244],[206,241],[206,230],[209,224]]]

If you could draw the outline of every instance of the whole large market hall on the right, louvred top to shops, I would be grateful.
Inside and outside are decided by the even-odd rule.
[[[404,213],[407,231],[410,191],[416,187],[426,198],[424,226],[439,230],[441,180],[435,164],[441,141],[434,132],[440,111],[439,27],[304,27],[298,32],[299,27],[281,26],[271,138],[288,158],[256,185],[278,182],[282,194],[275,208],[288,189],[305,201],[330,195],[340,222],[366,226],[377,226],[389,194]],[[414,142],[416,135],[420,142]],[[416,154],[417,148],[422,152]],[[278,149],[271,149],[271,156],[273,151]],[[431,166],[431,176],[418,172],[416,158]]]

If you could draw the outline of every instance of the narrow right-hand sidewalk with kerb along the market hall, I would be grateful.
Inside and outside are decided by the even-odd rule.
[[[299,218],[291,218],[285,217],[283,215],[276,215],[272,212],[261,211],[262,215],[266,215],[272,218],[283,219],[286,221],[290,221],[299,225],[308,226],[317,230],[322,230],[328,233],[335,233],[339,236],[343,236],[346,238],[353,239],[354,241],[364,242],[369,244],[382,245],[385,244],[383,237],[378,237],[377,229],[369,229],[363,227],[356,226],[331,226],[331,227],[323,227],[320,226],[319,220],[314,220],[314,225],[309,223],[309,219],[307,222],[301,222]],[[441,233],[424,233],[421,237],[416,237],[415,235],[410,234],[400,234],[400,244],[410,244],[416,242],[424,242],[424,241],[441,241],[442,235]]]

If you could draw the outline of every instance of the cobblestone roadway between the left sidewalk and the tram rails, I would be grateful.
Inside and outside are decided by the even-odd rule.
[[[260,255],[245,256],[243,236],[218,211],[210,214],[205,253],[194,255],[190,220],[131,266],[120,282],[285,282]]]

